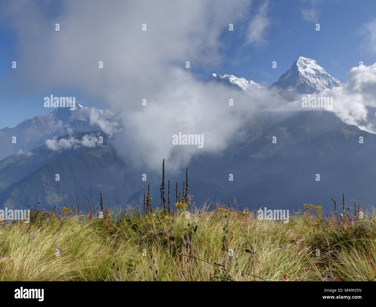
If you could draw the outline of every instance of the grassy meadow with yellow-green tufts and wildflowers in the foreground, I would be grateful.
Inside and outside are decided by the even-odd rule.
[[[85,215],[55,206],[32,210],[29,223],[0,222],[0,280],[376,279],[369,209],[341,206],[343,213],[323,217],[320,206],[304,205],[283,223],[228,204],[193,209],[188,193],[163,209],[152,209],[149,197],[144,208],[103,210],[103,218],[90,206]]]

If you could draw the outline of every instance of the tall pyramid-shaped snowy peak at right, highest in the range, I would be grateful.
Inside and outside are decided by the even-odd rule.
[[[315,93],[344,83],[329,75],[324,68],[313,59],[299,57],[288,71],[282,74],[271,87],[295,89],[300,93]]]

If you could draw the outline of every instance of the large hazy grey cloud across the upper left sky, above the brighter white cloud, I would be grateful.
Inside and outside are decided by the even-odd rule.
[[[171,78],[171,68],[186,61],[191,67],[220,63],[220,35],[229,23],[247,17],[249,5],[247,0],[63,1],[51,17],[48,7],[26,1],[3,3],[0,15],[17,34],[23,87],[40,92],[78,87],[132,108]]]

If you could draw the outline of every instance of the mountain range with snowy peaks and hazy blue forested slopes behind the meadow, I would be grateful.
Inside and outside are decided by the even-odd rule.
[[[222,83],[245,93],[268,90],[233,75],[212,74],[205,82]],[[343,85],[314,60],[299,57],[270,89],[308,94]],[[375,121],[376,108],[367,110],[366,121]],[[71,137],[82,140],[88,134],[93,137],[102,134],[98,127],[90,125],[87,109],[79,107],[71,114],[59,112],[56,109],[45,117],[36,116],[12,128],[22,131],[20,135],[31,134],[34,142],[20,148],[29,150],[28,154],[9,155],[19,149],[2,150],[2,155],[8,157],[0,161],[0,207],[20,208],[39,201],[51,205],[55,199],[61,205],[86,206],[88,197],[98,202],[99,193],[103,193],[108,206],[137,205],[142,203],[147,182],[151,183],[153,204],[159,206],[161,175],[148,175],[147,182],[141,181],[139,171],[118,158],[111,143],[50,150],[43,142],[47,136],[59,134],[57,140]],[[106,120],[113,116],[107,110],[100,113]],[[49,127],[61,122],[65,130],[50,133],[43,129],[44,122]],[[373,201],[376,170],[370,167],[373,164],[370,153],[376,149],[375,134],[347,125],[326,110],[283,115],[262,111],[242,131],[240,140],[234,139],[223,154],[196,157],[188,163],[190,193],[197,204],[236,198],[239,208],[296,209],[311,202],[330,211],[331,197],[340,198],[343,192],[348,199]],[[10,132],[7,138],[12,133],[15,132]],[[275,135],[278,138],[273,143]],[[359,143],[359,137],[364,138],[364,143]],[[3,140],[0,138],[1,148],[5,147]],[[56,173],[60,175],[59,182],[55,181]],[[233,181],[229,181],[229,174],[233,174]],[[320,181],[316,180],[317,174]],[[182,178],[184,170],[168,176],[171,182],[180,182]],[[174,184],[171,191],[173,187]]]

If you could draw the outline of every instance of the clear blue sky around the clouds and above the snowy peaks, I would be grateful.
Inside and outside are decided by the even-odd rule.
[[[262,8],[264,11],[261,12]],[[375,1],[253,1],[250,9],[249,20],[234,23],[233,32],[224,27],[220,36],[221,63],[215,66],[192,65],[196,78],[203,80],[216,72],[269,86],[291,67],[297,57],[304,56],[315,59],[329,74],[346,82],[347,72],[358,66],[359,61],[365,65],[376,62],[364,30],[364,25],[376,18]],[[62,14],[60,4],[50,5],[45,8],[45,13],[52,16]],[[244,32],[257,14],[261,15],[259,21],[264,26],[259,29],[259,37],[247,43]],[[315,30],[316,23],[320,24],[320,31]],[[40,92],[26,91],[20,86],[21,82],[17,80],[24,77],[21,63],[18,62],[17,69],[11,68],[11,62],[18,60],[21,51],[25,52],[20,50],[18,35],[6,23],[0,24],[0,129],[51,111],[41,104]],[[277,62],[276,69],[272,68],[273,61]],[[66,96],[64,87],[55,87],[54,90],[55,96],[59,93]],[[84,101],[85,106],[110,108],[106,101],[85,96],[79,87],[75,90],[76,97],[80,98],[77,101]],[[42,97],[49,95],[50,92]]]

